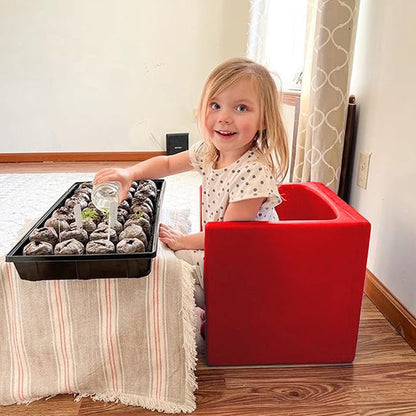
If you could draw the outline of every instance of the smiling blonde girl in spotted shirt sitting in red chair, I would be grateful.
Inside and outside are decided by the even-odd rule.
[[[94,182],[121,182],[124,198],[133,180],[196,169],[202,175],[204,225],[210,221],[277,221],[277,184],[288,167],[279,101],[266,68],[245,58],[228,60],[211,72],[201,94],[198,124],[202,141],[189,151],[157,156],[127,169],[102,169]],[[204,249],[204,231],[182,234],[161,224],[159,236],[172,250],[186,250],[180,256],[188,262],[196,264],[201,258],[196,250]],[[199,266],[196,298],[201,306]]]

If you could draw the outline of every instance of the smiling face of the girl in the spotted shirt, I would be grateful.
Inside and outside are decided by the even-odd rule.
[[[205,130],[219,151],[219,161],[232,163],[252,146],[260,129],[260,102],[254,82],[242,79],[208,102]]]

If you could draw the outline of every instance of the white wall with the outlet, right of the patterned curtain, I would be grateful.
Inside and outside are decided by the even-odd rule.
[[[361,0],[351,92],[372,156],[351,204],[372,224],[369,270],[416,316],[415,16],[413,0]]]

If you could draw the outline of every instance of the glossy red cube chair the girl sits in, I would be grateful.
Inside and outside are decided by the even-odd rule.
[[[280,222],[205,227],[207,363],[350,363],[370,223],[320,183],[281,185]]]

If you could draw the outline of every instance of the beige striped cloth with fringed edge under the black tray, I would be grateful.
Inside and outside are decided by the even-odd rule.
[[[30,282],[0,262],[0,405],[71,393],[192,412],[195,319],[190,266],[161,243],[140,279]]]

